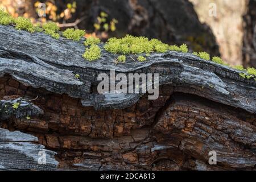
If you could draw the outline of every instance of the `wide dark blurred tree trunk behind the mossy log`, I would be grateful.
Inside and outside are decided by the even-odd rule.
[[[73,20],[86,16],[79,27],[92,32],[101,11],[119,21],[117,31],[110,36],[147,36],[169,44],[187,43],[194,51],[220,54],[212,31],[200,23],[192,3],[187,0],[77,1]]]

